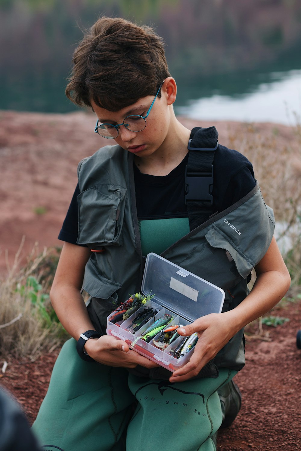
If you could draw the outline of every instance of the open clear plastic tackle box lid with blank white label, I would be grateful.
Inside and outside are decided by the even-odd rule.
[[[208,313],[221,313],[225,292],[155,253],[146,257],[141,290],[154,295],[163,307],[194,321]]]

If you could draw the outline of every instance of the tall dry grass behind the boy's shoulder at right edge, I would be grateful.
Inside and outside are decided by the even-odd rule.
[[[284,133],[284,132],[283,132]],[[294,136],[264,138],[259,125],[245,124],[241,133],[229,133],[229,147],[240,149],[254,166],[265,202],[273,208],[276,238],[292,277],[301,284],[301,125]]]

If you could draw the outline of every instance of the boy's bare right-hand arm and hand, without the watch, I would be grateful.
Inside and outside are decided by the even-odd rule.
[[[199,332],[199,340],[190,361],[173,373],[170,382],[181,382],[196,376],[236,332],[268,312],[285,295],[291,279],[275,238],[255,271],[257,277],[253,289],[236,308],[198,318],[185,326],[185,332],[184,329],[183,332],[179,330],[183,336]]]

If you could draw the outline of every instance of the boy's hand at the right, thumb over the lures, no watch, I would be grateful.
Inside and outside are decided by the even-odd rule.
[[[200,370],[235,335],[239,328],[236,330],[231,313],[210,313],[178,330],[182,336],[190,336],[198,332],[199,340],[190,361],[172,374],[169,378],[170,382],[183,382],[199,374]]]

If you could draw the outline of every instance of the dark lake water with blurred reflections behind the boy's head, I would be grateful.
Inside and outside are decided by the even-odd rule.
[[[176,114],[300,118],[299,0],[0,0],[0,109],[76,110],[64,94],[72,53],[103,14],[154,24],[178,85]]]

